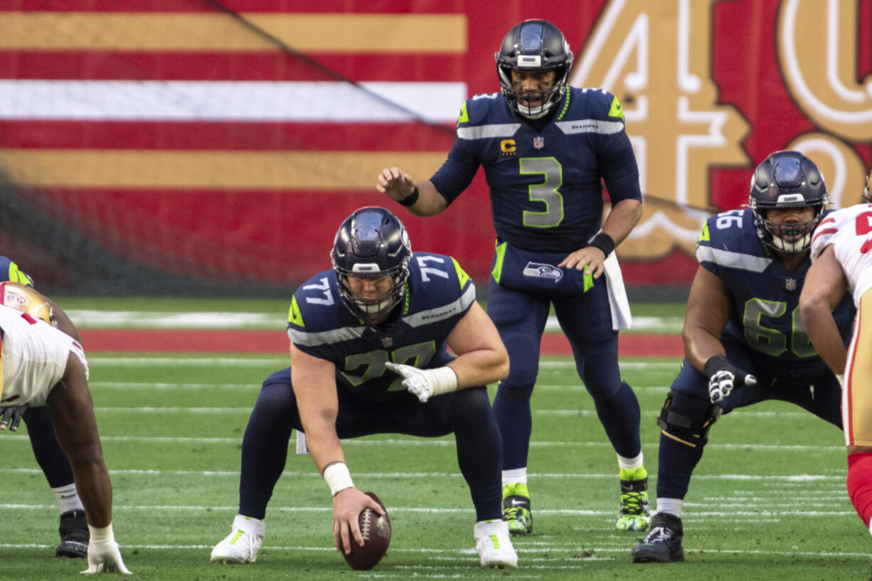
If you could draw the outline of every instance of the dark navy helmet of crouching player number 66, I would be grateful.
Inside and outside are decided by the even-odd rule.
[[[754,170],[751,209],[757,236],[767,246],[786,254],[799,254],[811,246],[812,232],[823,219],[829,197],[821,170],[798,151],[777,151]],[[774,223],[766,219],[773,208],[813,208],[807,222]]]

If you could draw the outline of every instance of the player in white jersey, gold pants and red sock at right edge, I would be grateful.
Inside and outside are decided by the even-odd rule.
[[[848,448],[848,496],[872,527],[872,196],[828,215],[814,230],[814,264],[800,295],[808,338],[844,382],[841,419]],[[857,308],[848,347],[835,334],[831,309],[845,291]],[[835,302],[834,302],[835,301]],[[843,374],[843,375],[842,375]],[[872,528],[870,528],[872,532]]]

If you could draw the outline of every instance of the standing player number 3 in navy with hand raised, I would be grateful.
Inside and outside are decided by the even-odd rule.
[[[617,365],[617,330],[629,328],[630,307],[613,250],[642,215],[623,109],[610,92],[567,86],[572,51],[554,24],[517,24],[495,56],[501,93],[463,104],[457,139],[439,171],[415,182],[399,167],[385,168],[377,188],[415,215],[435,215],[469,186],[479,167],[485,170],[497,234],[487,314],[512,362],[494,400],[509,529],[521,535],[533,529],[530,397],[553,304],[617,452],[617,529],[645,530],[650,511],[639,404]],[[604,222],[603,182],[612,204]]]

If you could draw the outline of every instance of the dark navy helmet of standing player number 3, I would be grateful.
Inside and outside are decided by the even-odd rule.
[[[525,20],[515,25],[502,39],[500,51],[494,56],[502,94],[508,99],[509,106],[524,117],[541,118],[566,92],[572,51],[563,33],[554,24],[546,20]],[[512,88],[512,69],[555,71],[554,86],[545,91],[515,91]],[[542,105],[521,104],[519,93],[525,100],[541,101]]]

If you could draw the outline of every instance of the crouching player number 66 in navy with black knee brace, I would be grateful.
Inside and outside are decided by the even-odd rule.
[[[697,242],[686,359],[657,420],[657,513],[631,551],[633,563],[684,560],[684,498],[720,415],[784,400],[841,427],[840,382],[809,341],[799,306],[812,232],[829,211],[823,176],[805,155],[775,152],[754,171],[749,203],[713,215]],[[833,316],[847,345],[855,316],[849,294]]]

